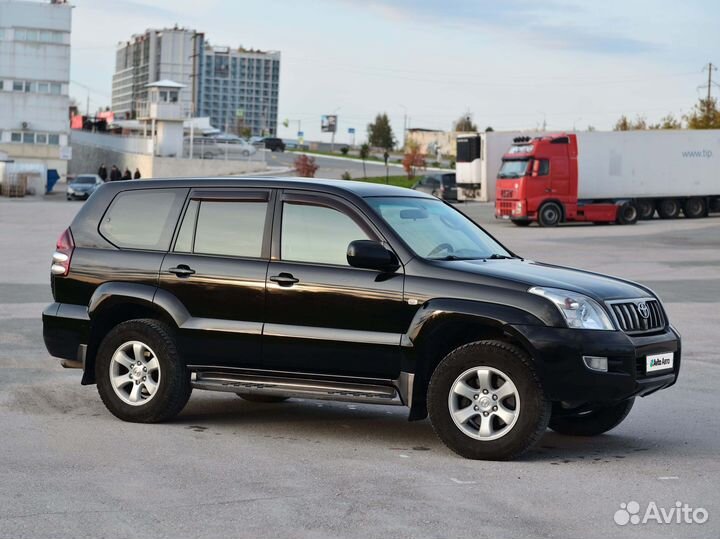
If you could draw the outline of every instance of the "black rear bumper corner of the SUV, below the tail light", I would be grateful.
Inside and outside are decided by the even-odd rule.
[[[90,335],[87,307],[51,303],[43,311],[43,340],[51,356],[82,360]]]

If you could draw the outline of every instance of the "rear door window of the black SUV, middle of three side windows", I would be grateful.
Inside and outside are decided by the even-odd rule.
[[[266,215],[267,202],[203,200],[193,252],[259,258]]]

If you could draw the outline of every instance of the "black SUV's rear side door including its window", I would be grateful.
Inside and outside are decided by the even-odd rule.
[[[190,193],[159,283],[190,316],[180,328],[189,365],[261,366],[272,198],[268,189]]]

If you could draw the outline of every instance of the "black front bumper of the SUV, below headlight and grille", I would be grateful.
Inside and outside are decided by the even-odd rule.
[[[552,401],[610,402],[670,387],[680,371],[680,335],[669,327],[653,335],[543,326],[512,326],[531,351]],[[674,353],[672,369],[647,374],[648,354]],[[608,372],[588,369],[583,356],[608,358]]]

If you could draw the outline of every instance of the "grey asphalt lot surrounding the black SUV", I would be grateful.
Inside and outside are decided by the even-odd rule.
[[[42,342],[50,256],[82,204],[58,198],[0,199],[0,538],[720,535],[720,218],[548,230],[460,206],[520,255],[651,286],[684,339],[676,386],[611,433],[548,431],[521,460],[480,462],[399,407],[195,391],[170,423],[115,419]],[[616,524],[630,502],[709,518]]]

